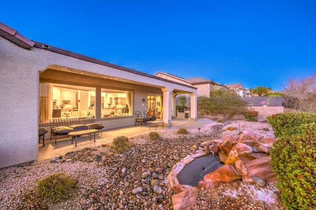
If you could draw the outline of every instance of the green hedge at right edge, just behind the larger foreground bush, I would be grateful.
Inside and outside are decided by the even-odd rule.
[[[302,125],[316,122],[316,114],[308,112],[278,113],[273,118],[267,117],[276,137],[291,136],[301,133]]]

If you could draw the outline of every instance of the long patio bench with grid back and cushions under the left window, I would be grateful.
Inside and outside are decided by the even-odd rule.
[[[94,117],[72,117],[72,118],[55,118],[50,119],[50,140],[52,137],[55,137],[55,144],[58,137],[66,136],[70,132],[74,131],[82,131],[88,129],[97,129],[101,130],[102,136],[102,129],[104,126],[99,123],[95,122]]]

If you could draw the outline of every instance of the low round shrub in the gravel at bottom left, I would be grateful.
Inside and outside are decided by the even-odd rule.
[[[66,201],[77,189],[77,181],[69,175],[56,173],[48,175],[39,180],[37,186],[37,196],[48,199],[52,203]]]

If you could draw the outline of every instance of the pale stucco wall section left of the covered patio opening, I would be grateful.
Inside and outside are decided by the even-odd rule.
[[[38,72],[22,49],[0,38],[0,168],[38,156]]]

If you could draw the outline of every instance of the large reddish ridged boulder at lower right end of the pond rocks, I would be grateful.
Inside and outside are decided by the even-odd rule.
[[[251,177],[254,175],[259,176],[266,181],[276,181],[276,175],[272,171],[270,160],[270,157],[264,157],[245,163],[244,165],[248,170],[248,174],[242,176],[242,181],[252,182],[253,180]]]

